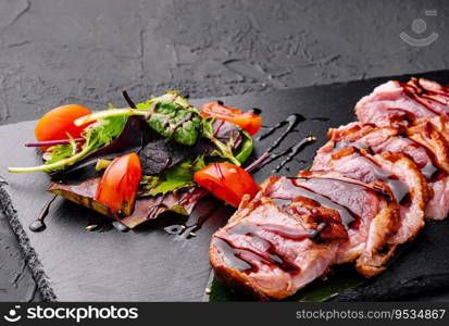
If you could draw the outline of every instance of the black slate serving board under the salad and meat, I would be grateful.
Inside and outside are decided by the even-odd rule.
[[[449,83],[449,72],[424,75]],[[262,109],[265,125],[273,125],[292,113],[308,118],[278,149],[282,151],[292,147],[310,135],[319,137],[319,141],[307,147],[279,172],[295,175],[298,170],[310,165],[316,149],[326,140],[325,133],[330,126],[354,120],[352,106],[358,99],[387,79],[408,77],[250,93],[222,100],[244,110]],[[158,218],[128,233],[113,228],[88,233],[85,226],[92,213],[59,199],[47,220],[47,230],[29,231],[28,225],[50,198],[42,190],[48,177],[45,174],[8,174],[5,167],[39,163],[35,152],[22,146],[33,139],[34,125],[35,122],[25,122],[0,127],[0,175],[8,181],[2,185],[0,196],[2,210],[5,210],[20,237],[43,297],[63,301],[200,301],[210,275],[210,236],[225,224],[232,210],[208,199],[202,205],[216,206],[216,213],[197,231],[197,237],[187,239],[185,236],[169,235],[163,229],[184,222],[174,215]],[[258,142],[255,154],[262,153],[272,141],[273,138],[267,138]],[[261,181],[270,175],[277,163],[258,172],[257,180]],[[187,225],[197,217],[192,214]],[[404,252],[385,274],[337,300],[386,300],[448,286],[449,260],[444,254],[449,246],[448,234],[448,222],[432,223],[416,241],[402,250]]]

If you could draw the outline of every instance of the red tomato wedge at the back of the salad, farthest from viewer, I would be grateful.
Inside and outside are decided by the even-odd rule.
[[[219,102],[202,104],[201,114],[204,117],[213,116],[239,125],[251,136],[259,133],[262,126],[262,120],[258,114],[244,112],[232,106],[223,105]]]

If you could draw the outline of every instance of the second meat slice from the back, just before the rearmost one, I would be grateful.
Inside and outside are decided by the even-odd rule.
[[[353,146],[376,154],[390,151],[402,153],[411,159],[426,177],[429,190],[434,192],[426,208],[426,217],[442,220],[447,216],[449,202],[440,201],[446,197],[448,184],[448,146],[442,135],[431,123],[422,122],[411,127],[396,125],[383,128],[371,124],[351,123],[330,129],[328,136],[330,142],[325,146],[326,148]]]

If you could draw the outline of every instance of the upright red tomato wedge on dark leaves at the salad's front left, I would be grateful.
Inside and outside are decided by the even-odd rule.
[[[116,158],[104,171],[95,199],[113,214],[130,215],[141,176],[140,160],[136,153]]]

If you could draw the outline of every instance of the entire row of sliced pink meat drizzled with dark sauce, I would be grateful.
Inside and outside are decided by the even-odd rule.
[[[220,280],[266,300],[292,294],[332,264],[356,261],[373,276],[425,215],[447,215],[449,88],[388,82],[356,114],[360,123],[329,130],[311,172],[269,178],[213,236]]]

